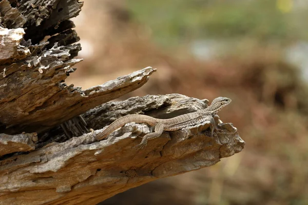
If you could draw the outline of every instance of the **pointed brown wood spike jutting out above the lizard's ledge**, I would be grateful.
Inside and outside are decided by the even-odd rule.
[[[46,54],[46,57],[58,59],[63,52],[65,51],[55,48],[54,53]],[[145,68],[82,91],[73,85],[60,83],[71,71],[71,65],[79,60],[70,59],[66,63],[57,63],[51,59],[41,58],[42,64],[46,66],[41,64],[39,68],[29,68],[26,64],[20,64],[17,71],[10,73],[10,77],[0,76],[0,84],[3,85],[0,87],[0,92],[3,93],[0,96],[0,123],[6,125],[2,132],[40,133],[48,130],[141,87],[155,71],[150,67]]]

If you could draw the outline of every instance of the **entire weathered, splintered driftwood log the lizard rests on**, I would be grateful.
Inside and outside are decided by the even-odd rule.
[[[67,86],[82,60],[73,58],[81,46],[69,20],[81,7],[74,0],[0,1],[0,204],[95,204],[243,149],[237,129],[218,116],[214,137],[205,121],[136,150],[137,135],[151,128],[132,122],[95,141],[88,128],[100,132],[133,113],[170,118],[208,100],[170,94],[107,103],[144,85],[156,71],[150,67],[84,91]]]

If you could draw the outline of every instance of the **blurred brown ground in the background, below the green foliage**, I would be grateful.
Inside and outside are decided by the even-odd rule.
[[[132,20],[125,2],[86,1],[73,19],[84,61],[69,77],[83,89],[151,66],[158,72],[130,96],[180,93],[232,98],[219,113],[245,149],[217,165],[157,180],[102,204],[308,204],[307,87],[279,47],[254,44],[242,53],[200,60],[185,46],[166,50]]]

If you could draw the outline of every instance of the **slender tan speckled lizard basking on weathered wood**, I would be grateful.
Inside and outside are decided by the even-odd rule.
[[[215,98],[210,106],[205,109],[191,112],[183,115],[179,115],[169,119],[158,119],[147,115],[142,114],[131,114],[120,117],[119,119],[113,121],[103,132],[98,135],[95,135],[94,130],[90,129],[95,139],[100,140],[106,138],[109,134],[113,131],[117,130],[118,128],[124,126],[130,122],[137,122],[137,123],[146,123],[150,126],[154,126],[154,131],[144,135],[142,138],[141,143],[136,146],[138,149],[143,149],[147,141],[150,139],[155,139],[159,137],[163,131],[176,131],[180,130],[187,126],[192,126],[196,124],[200,124],[206,120],[210,121],[210,129],[211,129],[211,137],[214,135],[214,130],[216,128],[214,115],[217,114],[223,107],[227,106],[231,103],[231,99],[227,97],[217,97]],[[134,148],[136,148],[134,147]]]

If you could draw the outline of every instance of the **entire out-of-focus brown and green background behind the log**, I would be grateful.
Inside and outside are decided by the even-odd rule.
[[[308,1],[87,0],[73,19],[87,89],[147,66],[123,96],[232,98],[219,113],[245,149],[101,204],[308,204]]]

